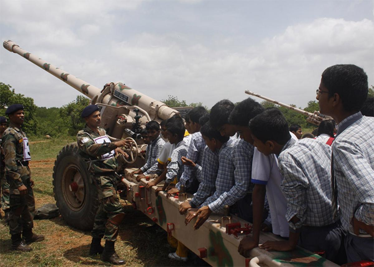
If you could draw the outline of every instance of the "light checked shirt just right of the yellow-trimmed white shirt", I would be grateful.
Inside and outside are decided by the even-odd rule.
[[[171,153],[171,162],[166,167],[166,183],[170,184],[175,177],[178,181],[181,178],[184,170],[181,157],[186,156],[188,151],[188,145],[186,141],[182,140],[175,145],[173,152]]]

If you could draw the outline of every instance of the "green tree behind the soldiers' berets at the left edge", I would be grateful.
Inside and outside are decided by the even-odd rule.
[[[38,133],[35,117],[37,106],[34,104],[34,99],[25,97],[21,93],[15,93],[15,89],[11,88],[12,86],[0,82],[0,116],[5,116],[5,110],[10,105],[24,105],[25,122],[22,125],[22,130],[28,135],[36,135]]]

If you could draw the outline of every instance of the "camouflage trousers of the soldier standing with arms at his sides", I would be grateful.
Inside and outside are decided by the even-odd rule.
[[[30,210],[35,210],[34,192],[31,187],[30,178],[23,180],[27,187],[27,194],[20,195],[14,185],[10,184],[9,196],[9,233],[19,234],[23,229],[31,229],[34,227],[33,216]],[[18,194],[15,194],[17,193]]]

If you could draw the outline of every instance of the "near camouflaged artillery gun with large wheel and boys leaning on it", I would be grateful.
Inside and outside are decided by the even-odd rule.
[[[178,113],[177,110],[123,83],[108,83],[100,90],[21,49],[12,41],[4,42],[3,46],[88,96],[92,104],[101,106],[102,126],[115,138],[132,136],[136,139],[139,129],[149,120],[160,121]],[[137,151],[138,148],[135,148],[129,152]],[[133,158],[135,157],[133,155]],[[137,163],[142,163],[141,159],[129,167]],[[125,178],[122,179],[126,187],[126,200],[212,266],[337,266],[302,248],[292,252],[254,248],[248,258],[245,258],[237,252],[237,248],[242,237],[251,232],[248,222],[229,215],[228,212],[223,216],[213,214],[199,230],[194,231],[196,218],[185,226],[185,216],[178,211],[181,201],[190,201],[193,197],[191,194],[184,193],[179,198],[167,198],[166,192],[160,192],[156,196],[157,186],[146,188],[148,178],[142,178],[140,182],[134,181],[130,177],[131,170],[125,169]],[[66,145],[56,158],[53,168],[53,192],[61,215],[68,224],[82,230],[92,228],[98,206],[97,193],[76,143]],[[266,240],[283,239],[272,233],[261,233],[260,243]]]

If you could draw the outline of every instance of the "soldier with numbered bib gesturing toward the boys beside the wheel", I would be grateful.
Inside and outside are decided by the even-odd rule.
[[[116,155],[127,154],[120,147],[128,144],[106,135],[104,129],[98,127],[101,122],[97,105],[89,105],[82,111],[86,126],[77,134],[78,147],[81,156],[88,163],[89,171],[98,189],[99,208],[96,212],[92,230],[90,255],[101,254],[101,260],[112,264],[124,264],[114,250],[114,242],[118,235],[118,225],[125,216],[116,191],[116,180],[120,179],[116,170],[118,167]],[[105,247],[101,239],[105,239]]]

